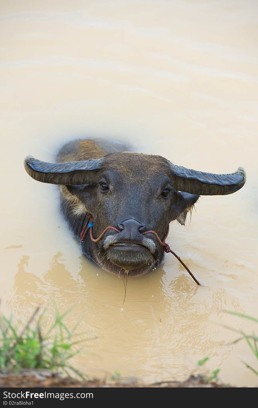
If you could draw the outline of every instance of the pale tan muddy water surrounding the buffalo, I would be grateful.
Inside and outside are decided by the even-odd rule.
[[[244,343],[220,324],[258,316],[257,2],[5,2],[1,6],[2,312],[27,318],[56,300],[72,327],[97,339],[74,364],[104,376],[183,379],[207,369],[235,385],[258,385]],[[122,279],[80,254],[58,211],[58,188],[25,173],[31,154],[51,162],[75,137],[127,140],[214,173],[243,166],[244,188],[202,197],[168,242],[156,271]],[[257,369],[257,366],[256,366]]]

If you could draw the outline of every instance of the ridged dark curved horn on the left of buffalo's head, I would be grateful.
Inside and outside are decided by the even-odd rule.
[[[75,186],[96,182],[96,173],[101,168],[102,160],[103,157],[80,162],[47,163],[27,156],[24,167],[34,180],[42,183]]]

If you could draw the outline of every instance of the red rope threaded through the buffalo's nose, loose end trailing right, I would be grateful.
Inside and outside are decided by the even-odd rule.
[[[92,229],[93,229],[93,217],[92,217],[92,215],[88,215],[88,221],[87,221],[87,223],[85,224],[85,226],[82,228],[82,232],[80,233],[81,242],[83,242],[83,240],[84,240],[84,238],[85,238],[85,235],[86,235],[86,233],[87,233],[87,231],[88,231],[87,227],[88,227],[88,229],[89,229],[89,233],[90,233],[91,241],[92,241],[92,242],[98,242],[98,241],[104,236],[104,234],[107,232],[107,230],[109,230],[109,229],[113,229],[113,230],[116,231],[116,232],[120,232],[117,228],[109,226],[109,227],[105,228],[105,230],[100,234],[100,236],[99,236],[97,239],[94,239],[94,238],[93,238],[93,234],[92,234]],[[165,238],[163,239],[163,241],[161,241],[160,237],[158,236],[158,234],[157,234],[155,231],[152,231],[152,230],[151,230],[151,231],[146,231],[146,232],[143,232],[143,233],[142,233],[142,235],[145,235],[145,234],[153,234],[153,235],[155,235],[155,237],[157,238],[158,242],[159,242],[160,245],[163,247],[163,250],[164,250],[166,253],[171,252],[171,254],[173,254],[173,255],[176,257],[176,259],[178,259],[178,261],[180,262],[180,264],[182,264],[182,266],[184,266],[184,268],[187,270],[187,272],[189,273],[189,275],[193,278],[194,282],[196,282],[197,285],[200,285],[200,282],[198,282],[198,280],[193,276],[193,274],[191,273],[191,271],[187,268],[187,266],[186,266],[186,265],[184,264],[184,262],[180,259],[180,257],[179,257],[178,255],[176,255],[176,253],[174,253],[174,252],[170,249],[169,244],[167,244],[167,243],[165,242],[166,239],[167,239],[167,236],[169,235],[169,225],[168,225],[168,227],[167,227],[167,233],[166,233]]]

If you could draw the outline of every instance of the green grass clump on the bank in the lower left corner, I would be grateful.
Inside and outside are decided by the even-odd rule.
[[[13,323],[12,315],[9,319],[0,316],[0,371],[17,373],[22,369],[47,369],[69,377],[73,372],[83,378],[70,364],[71,358],[80,353],[73,351],[73,346],[85,340],[74,341],[80,321],[69,330],[64,317],[71,309],[60,315],[55,305],[54,323],[43,334],[42,320],[46,309],[40,315],[39,310],[39,307],[34,310],[24,328]]]

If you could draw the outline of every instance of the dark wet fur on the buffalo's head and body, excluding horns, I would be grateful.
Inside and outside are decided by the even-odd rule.
[[[87,215],[93,215],[93,235],[98,237],[107,226],[117,226],[133,219],[154,230],[163,239],[167,226],[173,220],[185,224],[187,212],[191,210],[198,195],[180,193],[173,188],[173,179],[167,160],[161,156],[125,152],[128,147],[101,140],[75,140],[62,147],[58,162],[71,162],[104,157],[96,184],[61,186],[61,208],[73,232],[80,236]],[[100,183],[105,182],[110,190],[101,193]],[[168,199],[161,196],[162,189],[169,187]],[[160,244],[153,234],[144,235],[156,244],[151,254],[147,248],[135,251],[103,248],[108,235],[116,234],[123,242],[141,243],[142,234],[137,231],[116,233],[107,231],[98,243],[91,243],[89,232],[82,244],[82,252],[103,269],[120,275],[129,271],[137,276],[157,267],[164,256]]]

